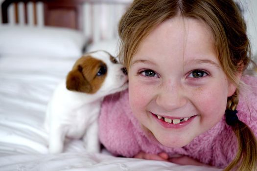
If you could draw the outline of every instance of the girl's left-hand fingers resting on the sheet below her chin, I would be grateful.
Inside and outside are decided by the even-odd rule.
[[[143,151],[140,151],[134,158],[146,159],[146,160],[159,160],[168,162],[168,154],[161,152],[159,154],[149,154]]]

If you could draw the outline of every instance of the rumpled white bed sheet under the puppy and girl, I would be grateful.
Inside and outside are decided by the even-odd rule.
[[[0,171],[219,171],[168,162],[89,154],[81,140],[47,154],[45,110],[76,59],[0,56]]]

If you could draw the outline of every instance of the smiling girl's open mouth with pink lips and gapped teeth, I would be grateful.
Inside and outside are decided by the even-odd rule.
[[[158,118],[158,116],[156,114],[153,114],[152,112],[150,112],[150,113],[152,114],[154,119],[157,121],[157,123],[159,123],[164,128],[183,128],[183,127],[187,126],[197,116],[197,115],[194,115],[191,117],[186,117],[188,119],[187,119],[187,121],[185,121],[185,120],[183,120],[183,118],[168,117],[168,116],[167,117],[162,116],[162,118],[160,119],[160,118]],[[166,119],[167,122],[164,121],[164,118],[167,118]],[[170,120],[172,120],[172,121],[170,121]],[[173,121],[173,120],[175,120],[175,121]],[[169,122],[171,122],[171,123],[169,123]],[[178,122],[180,122],[180,123],[178,123]]]

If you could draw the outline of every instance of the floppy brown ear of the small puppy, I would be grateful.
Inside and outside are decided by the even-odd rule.
[[[71,91],[90,93],[92,91],[92,86],[86,77],[84,77],[82,69],[82,66],[78,65],[77,68],[72,69],[69,72],[66,79],[66,88]]]

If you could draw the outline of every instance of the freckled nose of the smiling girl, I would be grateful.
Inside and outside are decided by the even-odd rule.
[[[179,84],[166,84],[160,88],[156,98],[159,107],[167,111],[184,107],[187,104],[187,95]]]

